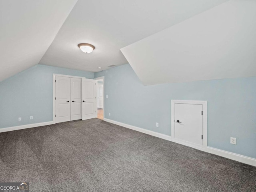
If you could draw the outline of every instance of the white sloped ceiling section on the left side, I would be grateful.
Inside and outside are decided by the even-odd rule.
[[[0,0],[0,81],[38,64],[77,0]]]

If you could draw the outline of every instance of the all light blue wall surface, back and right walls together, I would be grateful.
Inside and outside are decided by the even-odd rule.
[[[54,73],[105,76],[105,118],[167,135],[172,99],[207,100],[208,146],[256,158],[256,77],[144,86],[129,64],[95,74],[36,65],[0,82],[0,128],[52,121]]]

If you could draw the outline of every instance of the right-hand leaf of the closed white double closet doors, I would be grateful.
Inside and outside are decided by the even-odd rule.
[[[71,80],[71,120],[82,119],[82,80],[81,78],[70,78]]]

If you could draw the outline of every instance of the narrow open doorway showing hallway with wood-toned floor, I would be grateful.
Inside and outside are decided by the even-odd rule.
[[[97,87],[97,107],[98,115],[97,118],[104,119],[104,77],[95,78],[98,81]]]

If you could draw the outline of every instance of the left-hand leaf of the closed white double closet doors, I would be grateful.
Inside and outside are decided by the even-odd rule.
[[[70,78],[56,76],[56,123],[70,121]]]

